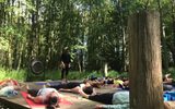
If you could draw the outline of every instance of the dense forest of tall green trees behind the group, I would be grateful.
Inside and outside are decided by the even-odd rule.
[[[73,71],[127,72],[128,16],[142,10],[160,13],[162,68],[174,68],[174,0],[0,0],[0,65],[56,70],[69,47]]]

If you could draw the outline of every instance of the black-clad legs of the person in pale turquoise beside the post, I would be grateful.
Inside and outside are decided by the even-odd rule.
[[[112,105],[113,95],[114,95],[113,93],[100,94],[100,95],[89,96],[89,99],[106,105]]]

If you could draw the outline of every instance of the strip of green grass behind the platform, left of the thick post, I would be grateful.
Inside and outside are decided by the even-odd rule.
[[[108,72],[109,77],[117,77],[120,74],[122,73],[118,73],[116,71]],[[45,73],[40,75],[34,75],[26,70],[16,71],[16,70],[5,70],[3,68],[0,68],[0,80],[14,78],[23,82],[24,81],[47,81],[47,80],[57,81],[61,78],[60,76],[61,76],[60,70],[45,71]],[[96,71],[83,72],[83,73],[80,73],[78,71],[70,71],[68,75],[68,80],[84,80],[92,76],[103,77],[104,74],[102,72],[96,72]]]

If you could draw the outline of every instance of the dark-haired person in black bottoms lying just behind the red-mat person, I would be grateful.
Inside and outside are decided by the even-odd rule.
[[[47,86],[56,88],[61,92],[79,93],[79,88],[81,88],[82,92],[84,92],[85,94],[89,95],[96,94],[95,89],[88,82],[84,83],[69,82],[65,84],[52,85],[52,86],[47,85]]]

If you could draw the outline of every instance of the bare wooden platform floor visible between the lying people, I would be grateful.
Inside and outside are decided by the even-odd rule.
[[[43,86],[36,85],[35,83],[26,83],[26,84],[28,84],[33,88],[43,87]],[[96,89],[96,92],[109,93],[109,92],[115,92],[115,88],[105,86],[101,89]],[[82,98],[78,94],[71,94],[71,93],[61,93],[61,94],[65,95],[66,97],[68,96],[67,100],[73,102],[73,105],[71,106],[60,105],[60,109],[94,109],[96,105],[100,105],[100,102]],[[22,97],[21,93],[19,93],[19,95],[13,98],[0,97],[0,102],[8,106],[9,109],[31,109],[30,106],[26,104],[25,99]]]

